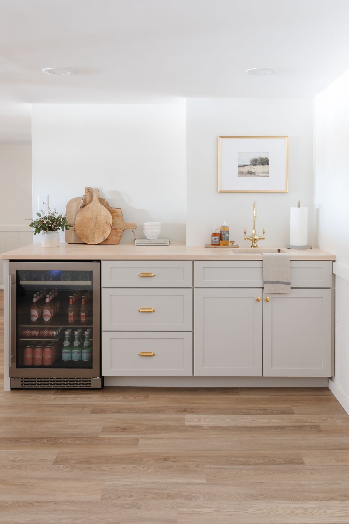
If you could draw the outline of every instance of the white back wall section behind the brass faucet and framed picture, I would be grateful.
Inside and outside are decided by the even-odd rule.
[[[288,135],[288,193],[218,193],[219,135]],[[309,207],[313,242],[312,99],[187,100],[187,244],[211,241],[215,223],[226,220],[230,239],[240,246],[252,233],[253,201],[263,246],[289,243],[289,208]]]

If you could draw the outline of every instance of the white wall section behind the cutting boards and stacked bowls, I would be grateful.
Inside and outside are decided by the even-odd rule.
[[[185,140],[184,103],[33,104],[33,213],[39,194],[65,212],[91,185],[138,224],[137,237],[160,221],[161,237],[185,243]],[[121,242],[132,239],[126,231]]]

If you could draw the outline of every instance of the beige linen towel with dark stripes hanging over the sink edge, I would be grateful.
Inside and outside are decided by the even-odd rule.
[[[290,257],[287,253],[263,253],[265,293],[291,292]]]

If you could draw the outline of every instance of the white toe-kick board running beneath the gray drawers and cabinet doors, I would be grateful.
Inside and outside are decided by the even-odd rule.
[[[327,377],[104,377],[105,386],[139,387],[322,387]]]

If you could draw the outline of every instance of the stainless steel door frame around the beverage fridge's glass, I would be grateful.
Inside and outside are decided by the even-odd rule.
[[[51,270],[51,271],[92,271],[92,298],[93,298],[93,312],[92,325],[93,332],[93,354],[92,354],[92,368],[78,369],[78,368],[17,368],[17,271],[30,270]],[[11,282],[12,293],[10,294],[10,343],[9,343],[9,358],[10,358],[10,377],[100,377],[100,262],[11,262],[9,263],[9,280]],[[48,280],[48,282],[54,282]],[[69,282],[69,281],[67,281]]]

